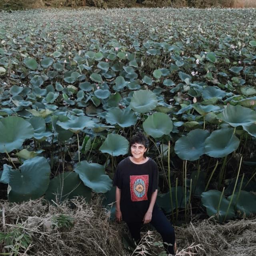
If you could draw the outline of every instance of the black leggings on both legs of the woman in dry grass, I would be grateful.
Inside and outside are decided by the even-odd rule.
[[[132,238],[134,238],[135,242],[138,244],[140,242],[140,228],[142,225],[142,222],[126,222],[128,225],[128,228],[130,230],[130,233],[132,235]],[[155,206],[153,208],[152,212],[152,219],[150,224],[156,228],[156,230],[160,233],[162,236],[163,242],[166,242],[167,245],[164,244],[164,248],[166,252],[170,254],[174,253],[174,242],[175,242],[175,232],[172,224],[167,220],[164,213],[158,208],[158,206]]]

